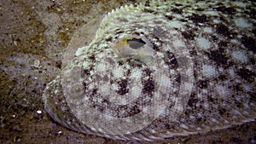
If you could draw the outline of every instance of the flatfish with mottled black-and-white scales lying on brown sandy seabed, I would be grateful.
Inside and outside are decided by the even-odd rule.
[[[94,36],[78,30],[44,90],[45,109],[71,130],[137,141],[253,121],[255,8],[147,1],[113,10]]]

